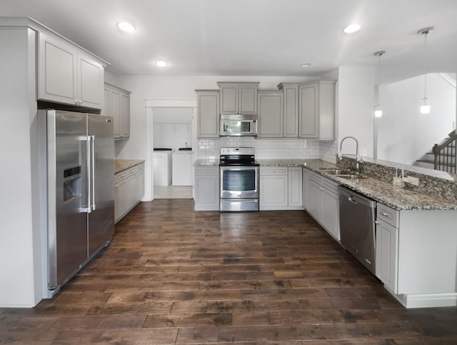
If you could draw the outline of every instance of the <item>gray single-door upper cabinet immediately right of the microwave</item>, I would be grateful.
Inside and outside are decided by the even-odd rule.
[[[258,91],[258,137],[283,136],[283,92]]]

